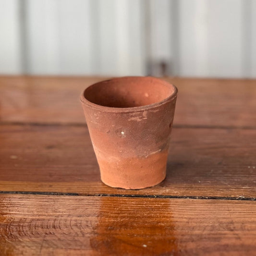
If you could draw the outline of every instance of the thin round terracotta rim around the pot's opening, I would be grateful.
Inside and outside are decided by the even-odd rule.
[[[149,104],[149,105],[144,105],[144,106],[139,106],[139,107],[129,107],[129,108],[106,107],[106,106],[95,104],[95,103],[93,103],[93,102],[91,102],[91,101],[89,101],[88,99],[85,98],[85,90],[87,88],[89,88],[90,86],[100,84],[100,83],[104,83],[106,81],[111,81],[111,80],[123,80],[123,79],[128,79],[128,78],[143,78],[143,77],[152,78],[152,79],[156,80],[159,83],[171,86],[173,88],[173,93],[169,97],[164,98],[161,101],[158,101],[158,102],[155,102],[155,103],[152,103],[152,104]],[[88,105],[89,107],[94,108],[94,109],[98,109],[98,110],[101,110],[101,111],[106,111],[106,112],[134,112],[134,111],[138,111],[138,110],[148,110],[148,109],[153,109],[153,108],[159,107],[159,106],[165,104],[166,102],[177,98],[177,93],[178,93],[178,89],[175,85],[172,85],[171,83],[169,83],[165,80],[159,79],[157,77],[154,77],[154,76],[122,76],[122,77],[110,78],[110,79],[103,80],[103,81],[94,83],[92,85],[89,85],[88,87],[86,87],[83,90],[83,92],[80,96],[80,100],[81,100],[82,103]]]

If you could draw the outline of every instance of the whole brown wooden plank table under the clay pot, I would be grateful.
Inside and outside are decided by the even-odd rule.
[[[256,80],[179,89],[167,177],[100,182],[81,91],[103,77],[0,77],[0,255],[256,255]]]

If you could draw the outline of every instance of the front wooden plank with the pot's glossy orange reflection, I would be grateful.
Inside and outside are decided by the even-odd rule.
[[[256,203],[0,195],[1,255],[255,255]]]

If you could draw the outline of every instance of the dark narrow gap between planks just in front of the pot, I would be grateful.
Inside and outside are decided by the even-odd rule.
[[[228,197],[228,196],[196,196],[196,195],[129,195],[129,194],[86,194],[70,192],[40,192],[40,191],[0,191],[0,194],[22,195],[76,195],[76,196],[108,196],[108,197],[138,197],[138,198],[182,198],[182,199],[217,199],[217,200],[247,200],[256,201],[256,197]]]

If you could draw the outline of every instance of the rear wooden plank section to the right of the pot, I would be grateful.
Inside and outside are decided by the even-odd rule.
[[[176,125],[256,128],[256,80],[179,79]]]

